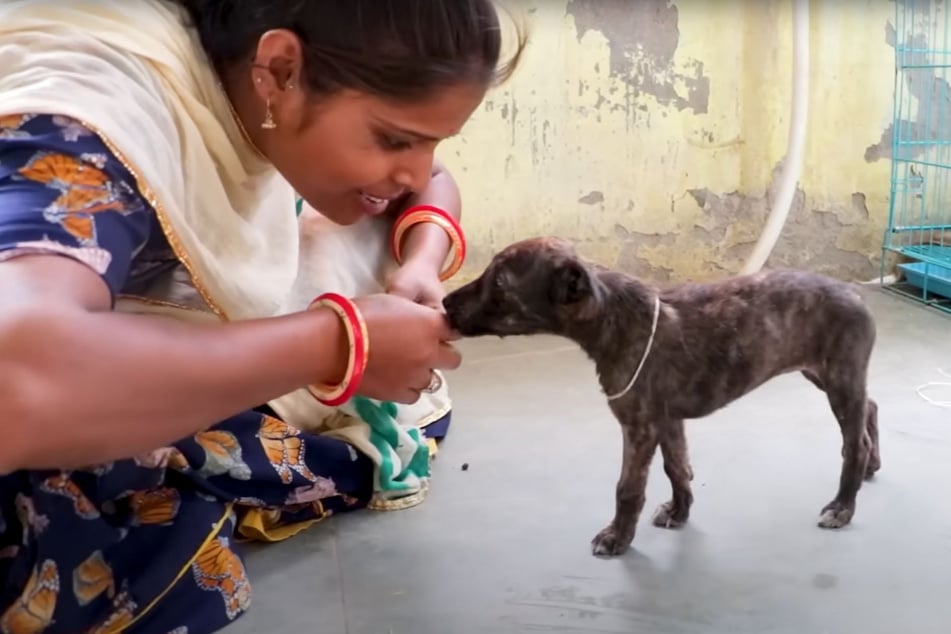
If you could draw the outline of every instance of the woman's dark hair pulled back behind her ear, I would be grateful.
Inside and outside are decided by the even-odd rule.
[[[462,82],[496,85],[525,47],[518,29],[514,54],[500,64],[492,0],[175,1],[219,71],[250,61],[266,31],[293,31],[308,87],[319,95],[349,88],[411,101]]]

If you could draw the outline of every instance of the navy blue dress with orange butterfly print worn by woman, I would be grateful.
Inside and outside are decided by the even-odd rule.
[[[180,266],[96,135],[65,117],[3,117],[0,260],[38,252],[85,263],[113,297]],[[0,476],[0,633],[217,631],[251,599],[240,538],[361,508],[372,482],[353,447],[264,408],[128,460]]]

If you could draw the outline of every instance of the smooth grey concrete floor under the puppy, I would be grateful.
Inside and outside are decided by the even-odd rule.
[[[687,528],[642,516],[634,549],[596,559],[620,439],[590,364],[555,339],[469,341],[427,502],[249,549],[253,607],[227,634],[946,634],[951,410],[915,390],[947,380],[951,319],[868,295],[884,466],[850,527],[815,526],[839,431],[793,375],[688,424]],[[668,493],[658,458],[646,512]]]

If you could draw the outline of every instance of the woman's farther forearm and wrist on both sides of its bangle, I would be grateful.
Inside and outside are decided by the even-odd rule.
[[[433,205],[446,211],[456,220],[462,218],[462,199],[452,175],[440,163],[434,163],[429,187],[414,194],[400,205],[399,213],[414,205]],[[411,227],[403,242],[403,262],[425,262],[437,272],[442,270],[452,243],[446,232],[437,225],[424,222]]]

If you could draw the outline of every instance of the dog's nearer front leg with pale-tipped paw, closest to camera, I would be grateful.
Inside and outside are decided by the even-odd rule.
[[[644,508],[644,493],[651,459],[657,450],[658,431],[653,423],[628,420],[621,424],[624,454],[615,492],[614,520],[591,540],[595,555],[620,555],[634,541],[637,520]]]

